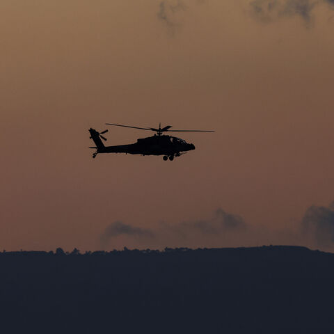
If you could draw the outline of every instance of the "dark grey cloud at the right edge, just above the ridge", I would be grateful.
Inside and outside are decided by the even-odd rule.
[[[302,219],[303,233],[315,239],[317,246],[334,244],[334,202],[328,207],[309,207]]]

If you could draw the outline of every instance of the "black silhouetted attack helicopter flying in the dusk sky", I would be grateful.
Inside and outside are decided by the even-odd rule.
[[[90,128],[90,139],[93,139],[96,146],[96,151],[93,153],[93,158],[100,153],[125,153],[125,154],[142,154],[142,155],[163,155],[164,161],[168,159],[173,161],[175,157],[180,157],[182,154],[195,150],[195,145],[186,143],[184,139],[174,136],[168,136],[165,132],[214,132],[211,130],[170,130],[172,126],[167,125],[161,129],[161,123],[159,123],[159,129],[154,127],[132,127],[129,125],[120,125],[113,123],[106,123],[106,125],[112,125],[114,127],[130,127],[132,129],[141,129],[152,132],[157,132],[154,136],[139,138],[136,143],[127,145],[116,146],[104,146],[101,139],[106,141],[106,138],[102,136],[108,132],[104,130],[97,132],[95,129]]]

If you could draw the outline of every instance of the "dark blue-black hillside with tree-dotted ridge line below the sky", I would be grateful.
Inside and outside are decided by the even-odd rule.
[[[334,254],[0,253],[1,333],[334,333]]]

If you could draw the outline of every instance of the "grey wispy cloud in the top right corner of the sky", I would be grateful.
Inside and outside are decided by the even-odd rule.
[[[321,3],[333,6],[334,0],[252,0],[249,5],[253,17],[261,22],[301,17],[305,24],[310,24],[313,10]]]

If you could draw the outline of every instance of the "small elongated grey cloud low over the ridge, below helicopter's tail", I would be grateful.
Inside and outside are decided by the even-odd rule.
[[[121,221],[115,221],[108,225],[101,234],[100,241],[102,246],[106,246],[113,237],[118,237],[119,235],[147,238],[154,237],[154,232],[146,228],[137,228],[135,226],[122,223]]]

